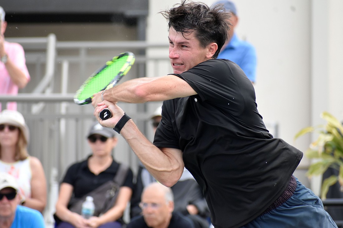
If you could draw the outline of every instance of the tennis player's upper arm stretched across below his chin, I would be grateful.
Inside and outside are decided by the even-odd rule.
[[[94,94],[92,104],[95,107],[102,101],[102,92]],[[188,83],[175,76],[136,78],[126,81],[104,92],[104,100],[111,102],[144,103],[165,101],[197,94]]]

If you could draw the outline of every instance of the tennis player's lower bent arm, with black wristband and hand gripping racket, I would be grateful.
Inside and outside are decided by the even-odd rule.
[[[94,115],[101,125],[114,128],[124,111],[115,103],[104,101],[96,107]],[[113,117],[102,121],[99,112],[105,107],[110,109]],[[167,187],[173,186],[184,171],[182,151],[174,148],[157,148],[140,132],[138,127],[130,119],[121,129],[120,134],[126,139],[133,152],[138,156],[146,169],[157,181]]]

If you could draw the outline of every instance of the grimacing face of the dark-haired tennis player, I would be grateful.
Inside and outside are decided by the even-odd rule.
[[[192,67],[211,59],[208,48],[202,48],[200,41],[192,33],[179,33],[169,29],[169,59],[174,74],[188,71]]]

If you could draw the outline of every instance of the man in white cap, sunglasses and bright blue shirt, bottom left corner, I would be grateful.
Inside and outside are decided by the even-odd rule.
[[[44,228],[42,214],[32,208],[19,205],[19,186],[13,176],[0,173],[0,227]]]

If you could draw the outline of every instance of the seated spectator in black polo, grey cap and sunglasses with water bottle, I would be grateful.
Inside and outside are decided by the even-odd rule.
[[[119,228],[122,226],[122,216],[132,194],[132,171],[128,170],[124,183],[120,187],[118,198],[113,207],[100,216],[83,218],[80,214],[69,210],[72,196],[79,199],[104,183],[113,180],[120,163],[112,156],[118,139],[115,131],[94,123],[88,133],[88,144],[92,155],[82,162],[71,165],[61,183],[59,198],[56,203],[55,220],[58,228]],[[60,220],[60,221],[59,221]]]

